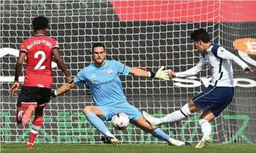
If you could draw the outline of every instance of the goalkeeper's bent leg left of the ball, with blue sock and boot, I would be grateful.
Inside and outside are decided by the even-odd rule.
[[[88,105],[85,107],[85,109],[83,109],[83,113],[85,114],[89,123],[92,124],[92,126],[96,127],[96,129],[99,130],[106,137],[109,137],[108,139],[111,141],[112,144],[119,144],[118,139],[116,139],[116,137],[110,133],[110,131],[104,124],[105,122],[111,119],[109,116],[115,115],[114,113],[113,115],[111,115],[112,113],[110,111],[110,108]],[[108,140],[104,142],[109,143]]]

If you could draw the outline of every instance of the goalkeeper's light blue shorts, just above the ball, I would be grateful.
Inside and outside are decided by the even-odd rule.
[[[97,106],[103,112],[103,116],[100,118],[105,123],[110,121],[116,113],[125,113],[130,121],[136,121],[141,118],[142,114],[134,105],[130,105],[128,102],[122,102],[121,104],[116,105],[105,105]]]

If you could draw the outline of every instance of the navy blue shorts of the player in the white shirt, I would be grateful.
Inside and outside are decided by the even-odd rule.
[[[220,113],[232,102],[234,87],[214,87],[209,85],[201,93],[194,96],[192,101],[201,110],[211,110],[215,116]]]

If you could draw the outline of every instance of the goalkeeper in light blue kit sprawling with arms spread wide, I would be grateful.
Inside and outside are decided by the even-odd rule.
[[[83,68],[75,77],[73,84],[64,84],[52,94],[52,98],[59,96],[80,84],[88,82],[95,106],[88,105],[83,109],[83,113],[89,122],[105,135],[102,141],[107,144],[118,145],[119,141],[111,134],[105,122],[110,121],[116,113],[126,113],[130,123],[139,127],[145,132],[151,133],[154,137],[167,141],[169,145],[183,146],[188,143],[170,138],[160,129],[153,130],[141,115],[140,111],[127,102],[126,96],[122,91],[121,80],[118,74],[132,74],[136,77],[151,77],[169,80],[168,72],[162,66],[157,73],[152,73],[138,68],[130,68],[116,60],[105,60],[105,45],[94,43],[92,46],[92,58],[94,63]]]

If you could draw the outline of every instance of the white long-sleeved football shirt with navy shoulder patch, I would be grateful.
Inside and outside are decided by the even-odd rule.
[[[235,87],[231,60],[240,65],[243,69],[248,66],[241,59],[236,57],[236,55],[227,51],[222,46],[219,46],[219,44],[212,43],[206,52],[201,55],[200,61],[194,68],[176,73],[176,77],[194,76],[208,65],[213,76],[211,85],[216,87]]]

